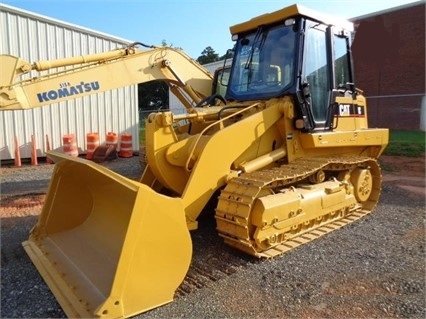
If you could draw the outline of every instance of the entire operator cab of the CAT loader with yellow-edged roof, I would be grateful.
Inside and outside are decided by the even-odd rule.
[[[322,21],[327,19],[293,5],[231,27],[236,45],[226,98],[292,95],[298,106],[296,128],[332,130],[336,97],[355,99],[356,92],[350,34]]]

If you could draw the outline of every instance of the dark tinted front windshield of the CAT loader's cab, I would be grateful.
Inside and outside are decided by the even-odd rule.
[[[236,100],[279,96],[293,84],[295,66],[293,26],[260,26],[240,36],[234,54],[227,97]]]

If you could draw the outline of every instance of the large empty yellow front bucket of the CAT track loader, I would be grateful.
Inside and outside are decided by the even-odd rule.
[[[23,246],[68,317],[123,318],[173,300],[192,244],[182,202],[98,164],[56,163]]]

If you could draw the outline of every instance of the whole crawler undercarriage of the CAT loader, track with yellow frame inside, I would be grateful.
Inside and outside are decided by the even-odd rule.
[[[359,156],[303,158],[244,173],[219,196],[217,231],[234,248],[275,257],[369,214],[381,182],[377,161]],[[269,208],[259,209],[261,202]]]

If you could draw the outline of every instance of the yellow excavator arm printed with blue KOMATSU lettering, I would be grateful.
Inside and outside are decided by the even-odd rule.
[[[1,55],[0,110],[35,108],[152,80],[166,81],[189,110],[211,94],[212,75],[185,53],[166,47],[137,50],[137,44],[32,64]]]

